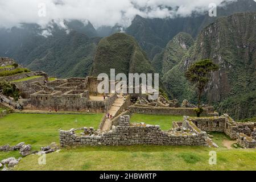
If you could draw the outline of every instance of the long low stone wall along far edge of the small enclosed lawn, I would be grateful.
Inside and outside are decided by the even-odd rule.
[[[129,110],[132,113],[138,114],[155,114],[155,115],[189,115],[195,116],[194,108],[184,107],[142,107],[130,106]],[[201,114],[201,116],[218,116],[218,113],[209,113],[208,109]]]

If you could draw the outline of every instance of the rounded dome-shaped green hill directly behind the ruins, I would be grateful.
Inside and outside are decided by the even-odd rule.
[[[98,44],[91,75],[100,73],[154,73],[146,53],[139,47],[136,40],[127,34],[118,33],[104,38]]]

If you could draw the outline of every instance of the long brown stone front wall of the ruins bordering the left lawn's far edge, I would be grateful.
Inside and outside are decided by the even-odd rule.
[[[107,97],[104,101],[89,100],[88,90],[70,90],[64,94],[60,91],[48,93],[40,91],[31,94],[30,103],[24,105],[25,109],[85,111],[90,113],[105,113],[117,98],[116,94]],[[26,102],[25,102],[26,104]]]

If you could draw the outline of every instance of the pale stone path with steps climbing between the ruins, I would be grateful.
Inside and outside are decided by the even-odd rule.
[[[117,116],[117,112],[118,110],[120,109],[120,107],[125,103],[125,101],[123,100],[123,97],[120,96],[119,98],[117,98],[115,100],[115,102],[112,104],[112,106],[110,107],[108,113],[110,115],[112,115],[112,117],[116,117]],[[112,125],[112,119],[108,118],[106,119],[103,127],[102,127],[102,130],[106,131],[106,130],[110,130],[110,127]]]

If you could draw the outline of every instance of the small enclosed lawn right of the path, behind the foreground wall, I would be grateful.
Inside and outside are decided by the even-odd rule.
[[[181,115],[147,115],[147,114],[133,114],[131,122],[144,122],[148,125],[160,125],[162,130],[169,130],[172,128],[173,121],[183,121]]]

